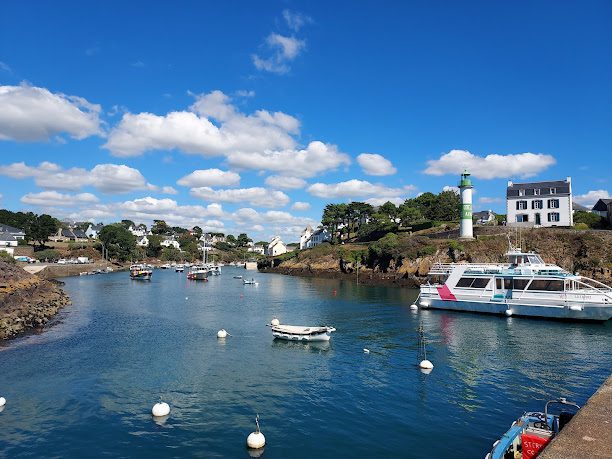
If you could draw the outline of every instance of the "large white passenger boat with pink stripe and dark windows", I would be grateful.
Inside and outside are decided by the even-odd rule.
[[[510,246],[507,264],[437,263],[421,286],[422,308],[506,316],[606,321],[612,288]]]

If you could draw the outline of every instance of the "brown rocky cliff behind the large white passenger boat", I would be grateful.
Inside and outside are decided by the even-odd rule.
[[[372,244],[346,244],[286,254],[260,263],[262,271],[309,277],[357,278],[363,283],[417,287],[426,280],[433,263],[467,261],[472,263],[505,262],[508,235],[483,235],[473,241],[437,239],[436,235],[402,235],[388,254],[373,250]],[[576,231],[532,229],[521,233],[523,249],[539,253],[547,263],[571,272],[612,284],[612,231]]]

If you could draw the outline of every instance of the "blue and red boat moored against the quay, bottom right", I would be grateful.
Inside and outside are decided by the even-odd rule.
[[[572,411],[562,410],[559,414],[550,414],[549,405],[571,406]],[[572,419],[578,405],[565,398],[550,400],[544,405],[544,412],[528,412],[514,421],[510,429],[493,443],[493,449],[485,459],[533,459],[546,448],[555,435]]]

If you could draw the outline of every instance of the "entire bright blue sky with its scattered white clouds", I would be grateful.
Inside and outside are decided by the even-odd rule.
[[[474,175],[610,196],[612,4],[8,2],[0,206],[296,240]]]

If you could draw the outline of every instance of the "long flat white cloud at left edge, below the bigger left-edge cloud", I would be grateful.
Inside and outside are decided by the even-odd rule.
[[[102,193],[117,194],[152,187],[138,169],[120,164],[98,164],[87,170],[78,167],[62,169],[48,161],[38,166],[19,162],[0,166],[0,175],[15,179],[33,178],[41,188],[54,190],[78,190],[93,186]]]

